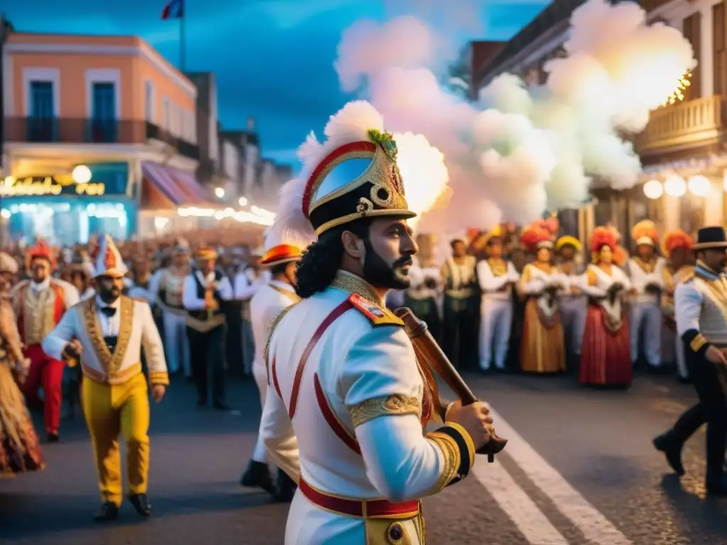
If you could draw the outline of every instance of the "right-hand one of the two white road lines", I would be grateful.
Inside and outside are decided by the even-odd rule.
[[[618,528],[608,522],[586,498],[573,488],[553,466],[547,463],[526,440],[515,432],[510,424],[497,412],[490,409],[497,435],[507,438],[505,452],[518,464],[529,479],[555,504],[556,509],[575,525],[587,540],[594,545],[633,545]],[[478,460],[475,468],[481,467],[483,475],[488,474],[492,464]],[[495,469],[497,472],[497,469]],[[497,499],[497,497],[496,497]]]

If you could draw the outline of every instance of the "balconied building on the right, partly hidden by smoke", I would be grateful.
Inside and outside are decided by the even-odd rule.
[[[563,55],[569,19],[585,0],[555,0],[513,37],[499,54],[475,70],[478,89],[500,73],[544,84],[543,65]],[[691,71],[684,100],[651,112],[646,129],[633,140],[643,175],[632,190],[614,191],[596,179],[593,200],[578,211],[563,211],[561,225],[584,240],[595,225],[611,223],[627,234],[640,219],[662,232],[688,232],[727,217],[727,11],[724,0],[642,0],[651,23],[682,31],[698,65]],[[627,236],[624,237],[624,243]]]

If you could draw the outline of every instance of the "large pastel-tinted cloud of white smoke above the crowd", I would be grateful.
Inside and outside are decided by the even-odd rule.
[[[545,86],[505,73],[477,104],[443,89],[431,70],[443,43],[411,16],[362,20],[345,31],[336,62],[342,87],[363,88],[387,130],[423,134],[443,152],[454,194],[422,219],[442,231],[578,207],[595,178],[632,187],[640,162],[622,134],[640,132],[694,67],[681,33],[647,25],[632,2],[587,1],[571,17],[566,57],[545,66]]]

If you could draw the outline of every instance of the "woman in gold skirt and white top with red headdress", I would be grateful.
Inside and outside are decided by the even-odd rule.
[[[521,244],[534,262],[523,269],[518,293],[525,304],[521,339],[521,369],[527,373],[566,370],[566,347],[558,298],[568,278],[553,266],[553,235],[538,225],[523,229]]]

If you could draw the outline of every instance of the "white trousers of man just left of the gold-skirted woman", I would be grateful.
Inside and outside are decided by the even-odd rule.
[[[483,295],[480,305],[480,367],[489,369],[492,352],[495,366],[505,368],[507,348],[510,344],[510,329],[513,325],[513,302]]]

